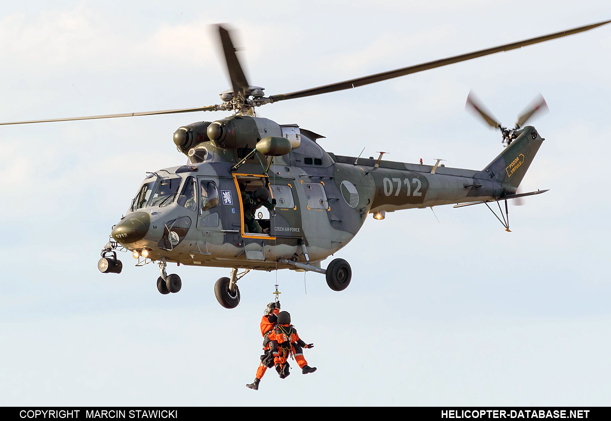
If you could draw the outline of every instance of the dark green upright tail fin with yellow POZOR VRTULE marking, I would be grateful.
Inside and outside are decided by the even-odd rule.
[[[515,132],[518,137],[483,172],[493,181],[518,187],[543,139],[533,126]]]

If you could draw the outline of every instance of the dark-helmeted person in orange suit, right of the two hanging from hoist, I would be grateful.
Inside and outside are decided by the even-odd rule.
[[[316,371],[316,367],[307,365],[302,350],[302,348],[313,348],[314,344],[306,344],[303,340],[299,339],[297,329],[291,325],[291,315],[288,311],[281,311],[278,314],[276,329],[268,337],[270,340],[275,340],[278,344],[278,355],[274,354],[274,364],[280,378],[284,379],[290,374],[287,361],[290,354],[293,354],[295,357],[295,361],[299,364],[302,374]]]

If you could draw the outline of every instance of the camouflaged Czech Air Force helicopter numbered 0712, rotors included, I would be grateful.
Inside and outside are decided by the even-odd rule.
[[[502,152],[483,170],[408,164],[340,156],[317,142],[323,136],[298,124],[278,124],[257,117],[255,108],[285,99],[304,98],[380,82],[452,63],[518,49],[610,23],[604,21],[568,31],[448,57],[349,81],[281,95],[265,96],[250,85],[230,32],[218,26],[232,87],[221,104],[153,112],[136,112],[0,124],[89,120],[199,111],[222,111],[229,117],[197,121],[174,132],[174,145],[185,165],[148,173],[126,214],[112,226],[101,250],[98,270],[121,273],[117,251],[129,251],[137,266],[157,264],[160,293],[177,293],[181,278],[167,273],[167,264],[230,268],[218,279],[214,293],[225,308],[240,303],[237,282],[250,270],[279,269],[317,272],[329,287],[348,287],[352,271],[344,259],[321,262],[340,251],[362,227],[368,214],[383,220],[386,212],[455,204],[455,207],[497,203],[499,218],[510,231],[507,201],[547,190],[518,193],[519,184],[544,139],[527,121],[546,109],[538,99],[523,112],[513,129],[497,123],[473,95],[467,106],[502,134]],[[261,202],[254,203],[260,192]],[[503,215],[500,203],[505,202]],[[271,209],[258,207],[271,204]],[[491,209],[492,210],[492,209]],[[247,223],[253,212],[256,224]],[[495,214],[496,215],[496,214]],[[258,226],[258,229],[252,229]],[[243,272],[238,273],[240,269]]]

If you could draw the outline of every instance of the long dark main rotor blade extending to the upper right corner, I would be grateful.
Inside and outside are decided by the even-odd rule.
[[[512,49],[521,48],[527,45],[533,45],[544,41],[554,40],[555,38],[567,37],[568,35],[578,34],[579,32],[589,31],[595,27],[606,25],[611,20],[590,24],[586,26],[580,26],[566,31],[555,32],[554,34],[543,35],[541,37],[529,38],[528,40],[518,41],[510,44],[500,45],[497,47],[486,48],[479,51],[469,52],[467,54],[461,54],[460,56],[448,57],[447,59],[435,60],[433,62],[426,62],[415,66],[404,67],[397,70],[385,71],[382,73],[371,74],[370,76],[358,77],[357,79],[350,79],[349,81],[337,82],[335,84],[323,85],[316,88],[304,89],[301,91],[290,92],[280,95],[272,95],[270,98],[273,102],[283,101],[284,99],[303,98],[304,96],[320,95],[321,93],[341,91],[349,88],[356,88],[357,86],[364,86],[373,84],[375,82],[386,81],[387,79],[393,79],[394,77],[405,76],[406,74],[417,73],[424,70],[429,70],[437,67],[447,66],[453,63],[464,62],[466,60],[476,59],[477,57],[489,56],[501,51],[510,51]]]

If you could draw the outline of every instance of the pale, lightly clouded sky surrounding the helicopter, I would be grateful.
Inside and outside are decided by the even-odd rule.
[[[215,23],[274,95],[610,18],[587,0],[7,4],[0,120],[219,103]],[[335,154],[480,170],[502,145],[464,111],[469,90],[507,126],[541,93],[550,112],[532,124],[546,141],[522,190],[550,191],[510,207],[511,233],[485,206],[368,217],[334,256],[353,268],[348,289],[251,272],[233,310],[213,293],[229,268],[169,265],[183,287],[165,296],[156,265],[122,254],[121,275],[96,267],[145,171],[185,162],[175,129],[226,113],[0,127],[0,404],[609,405],[610,52],[611,25],[258,109]],[[318,371],[270,370],[255,392],[244,385],[276,279]]]

